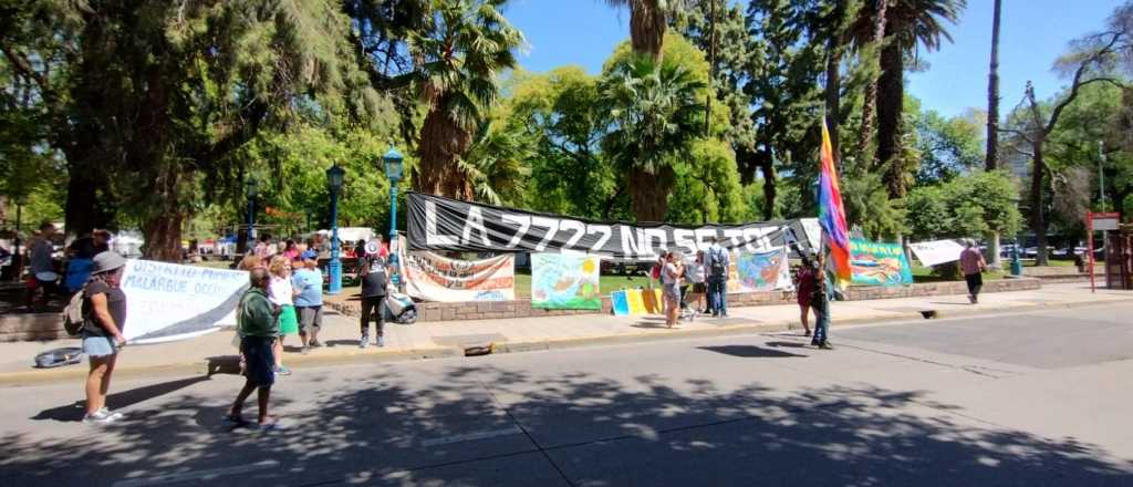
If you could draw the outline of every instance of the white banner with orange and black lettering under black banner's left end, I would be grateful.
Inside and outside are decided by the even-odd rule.
[[[461,260],[431,251],[398,251],[406,293],[424,301],[510,301],[516,299],[513,255]]]

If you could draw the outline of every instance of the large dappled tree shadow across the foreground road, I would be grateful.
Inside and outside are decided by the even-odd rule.
[[[365,370],[339,390],[304,393],[301,409],[278,383],[275,411],[288,424],[279,432],[228,433],[219,419],[230,398],[194,392],[135,401],[125,425],[94,435],[3,434],[0,484],[110,484],[262,461],[282,467],[230,485],[568,485],[563,476],[589,486],[1133,481],[1133,467],[1096,446],[970,420],[918,391],[725,386],[650,370],[545,374],[496,361]],[[308,374],[317,382],[343,373]],[[122,394],[152,398],[179,384],[188,383]]]

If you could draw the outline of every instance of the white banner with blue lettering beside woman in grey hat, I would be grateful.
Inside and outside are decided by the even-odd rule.
[[[185,340],[236,325],[248,273],[153,260],[127,260],[122,274],[129,343]]]

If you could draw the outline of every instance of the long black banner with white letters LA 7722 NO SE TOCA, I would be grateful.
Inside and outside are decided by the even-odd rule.
[[[715,240],[733,250],[767,251],[798,239],[803,251],[818,248],[801,220],[700,227],[622,223],[460,202],[410,193],[410,250],[556,253],[654,260],[661,250],[695,254]],[[790,237],[792,236],[793,237]]]

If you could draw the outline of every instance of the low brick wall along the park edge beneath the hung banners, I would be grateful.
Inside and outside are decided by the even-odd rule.
[[[1026,291],[1039,289],[1038,279],[1003,279],[983,283],[983,292]],[[851,301],[867,299],[915,298],[923,296],[966,294],[968,285],[963,281],[931,282],[894,288],[850,288],[847,298]],[[742,292],[727,296],[731,307],[790,305],[795,302],[794,292]],[[357,300],[327,302],[332,308],[344,315],[358,316],[360,304]],[[610,314],[610,298],[602,299],[602,311],[595,310],[548,310],[531,308],[531,301],[518,299],[496,302],[418,302],[421,322],[461,322],[468,319],[527,318],[531,316],[568,316]]]

